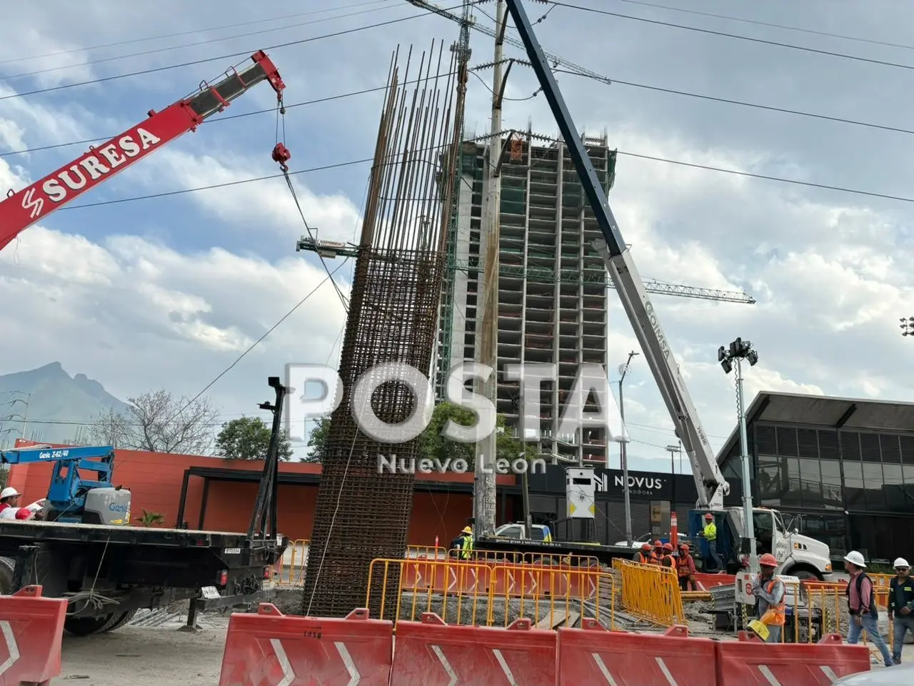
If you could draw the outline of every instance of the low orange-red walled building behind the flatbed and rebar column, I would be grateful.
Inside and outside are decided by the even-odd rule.
[[[36,445],[17,441],[17,447]],[[66,447],[58,446],[55,447]],[[248,531],[263,463],[220,457],[170,455],[117,450],[115,485],[130,488],[135,526],[143,510],[165,517],[163,526],[207,531]],[[10,467],[8,485],[29,503],[48,494],[48,463]],[[279,529],[291,540],[311,537],[321,466],[280,464]],[[499,521],[513,519],[519,488],[515,477],[497,477]],[[409,521],[409,543],[451,541],[473,516],[472,474],[417,474]]]

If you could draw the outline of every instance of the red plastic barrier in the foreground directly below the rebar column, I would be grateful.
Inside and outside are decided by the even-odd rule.
[[[261,603],[228,620],[218,686],[388,686],[392,662],[393,624],[367,609],[327,619]]]

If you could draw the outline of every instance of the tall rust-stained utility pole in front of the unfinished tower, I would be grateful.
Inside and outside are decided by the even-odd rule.
[[[492,78],[492,128],[489,138],[489,168],[483,202],[482,234],[485,236],[483,273],[482,328],[479,329],[480,362],[492,368],[492,376],[481,384],[483,395],[497,407],[498,400],[498,263],[502,208],[502,184],[498,162],[502,157],[502,99],[505,83],[502,60],[505,53],[505,0],[498,0],[495,10],[495,55]],[[520,422],[523,432],[523,421]],[[473,534],[484,536],[495,529],[495,474],[497,434],[492,432],[476,444],[476,468],[473,479]]]

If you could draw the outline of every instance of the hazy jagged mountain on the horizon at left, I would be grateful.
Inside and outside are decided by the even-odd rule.
[[[126,412],[127,404],[85,374],[71,377],[59,362],[0,375],[0,446],[22,436],[24,418],[27,438],[63,443],[109,408]]]

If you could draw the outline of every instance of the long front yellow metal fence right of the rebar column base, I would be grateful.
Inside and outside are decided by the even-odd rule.
[[[399,595],[391,597],[394,582]],[[615,627],[610,573],[573,567],[464,563],[453,560],[373,560],[366,606],[371,615],[420,621],[435,612],[448,624],[506,627],[527,617],[537,627],[573,626],[590,618]]]

